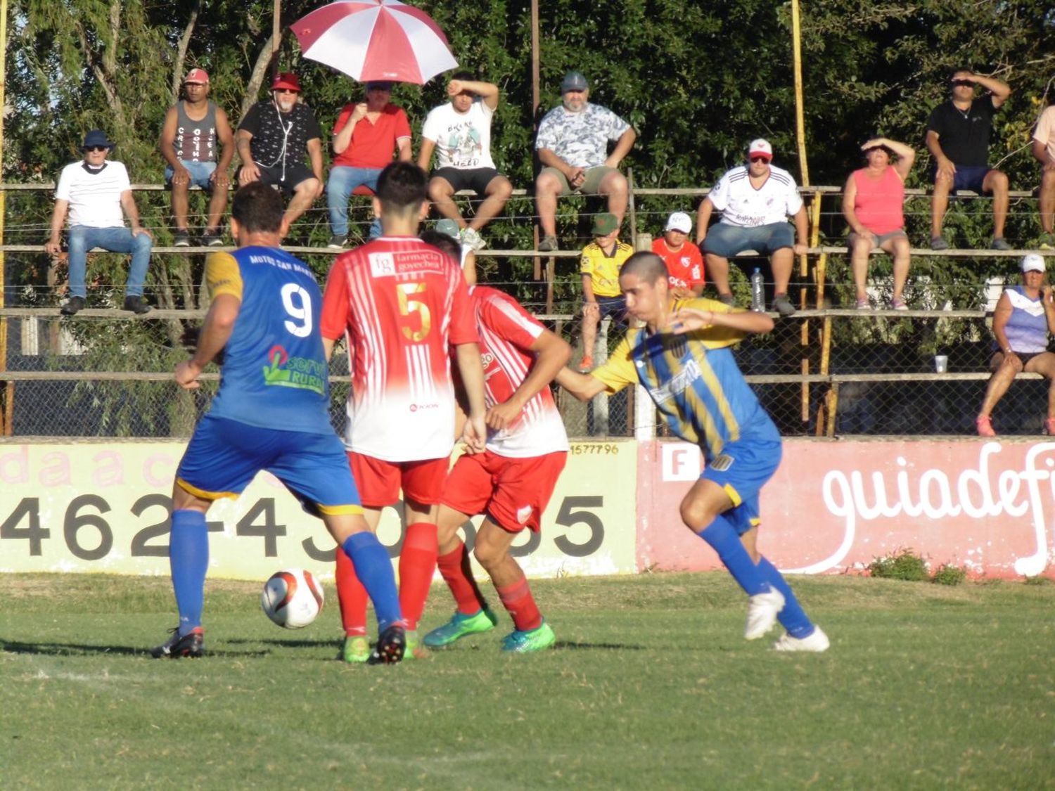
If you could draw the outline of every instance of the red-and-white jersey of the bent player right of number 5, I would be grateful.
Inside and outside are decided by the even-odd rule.
[[[483,359],[487,408],[510,400],[535,363],[532,344],[545,329],[509,294],[486,286],[469,289]],[[487,449],[523,459],[568,450],[568,433],[553,393],[543,387],[507,428],[487,431]]]

